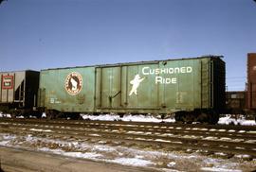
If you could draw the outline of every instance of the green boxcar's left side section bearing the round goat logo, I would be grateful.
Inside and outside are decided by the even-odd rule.
[[[95,67],[42,71],[40,91],[41,105],[47,109],[61,112],[93,112]]]

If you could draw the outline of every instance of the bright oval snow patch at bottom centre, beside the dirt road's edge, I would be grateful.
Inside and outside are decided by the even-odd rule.
[[[133,166],[147,166],[150,164],[154,164],[151,161],[141,160],[137,158],[118,158],[112,161],[113,163],[121,163],[124,165],[133,165]]]

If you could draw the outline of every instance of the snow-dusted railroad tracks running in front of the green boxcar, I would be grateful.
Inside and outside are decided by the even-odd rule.
[[[256,157],[256,127],[248,126],[1,118],[0,130],[165,148],[199,149],[230,155],[247,154]]]

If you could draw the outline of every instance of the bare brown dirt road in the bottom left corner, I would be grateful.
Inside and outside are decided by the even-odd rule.
[[[0,146],[0,172],[136,172],[153,171],[141,167],[123,166],[113,163],[98,163],[67,158],[45,152],[27,151]]]

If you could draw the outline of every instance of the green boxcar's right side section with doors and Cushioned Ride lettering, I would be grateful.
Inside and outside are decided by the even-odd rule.
[[[97,68],[98,112],[177,112],[213,104],[210,58]],[[212,92],[212,93],[211,93]]]

